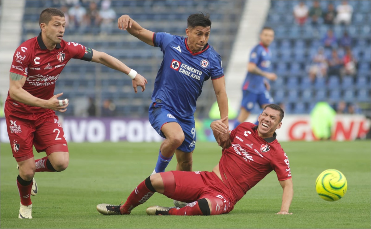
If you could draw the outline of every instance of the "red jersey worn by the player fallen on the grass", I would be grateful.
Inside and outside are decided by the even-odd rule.
[[[244,122],[231,131],[230,139],[232,146],[224,150],[219,170],[236,202],[272,170],[279,181],[291,178],[289,159],[276,133],[272,138],[260,138],[257,126]]]

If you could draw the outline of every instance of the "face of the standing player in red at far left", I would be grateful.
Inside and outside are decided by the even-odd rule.
[[[63,34],[65,33],[66,19],[60,16],[53,16],[52,20],[45,25],[45,35],[48,43],[52,45],[59,44],[62,41]]]

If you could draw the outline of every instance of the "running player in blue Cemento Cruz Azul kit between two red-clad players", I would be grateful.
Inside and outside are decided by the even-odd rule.
[[[207,41],[210,36],[209,14],[192,14],[187,19],[187,38],[169,33],[154,33],[142,28],[129,15],[118,19],[118,28],[127,30],[164,54],[158,70],[152,103],[148,110],[153,128],[165,138],[160,146],[152,174],[164,172],[174,155],[176,170],[192,171],[192,153],[196,145],[194,112],[205,80],[211,78],[220,116],[228,115],[228,99],[220,55]],[[228,127],[228,120],[224,121]],[[229,144],[226,132],[217,137],[222,148]]]

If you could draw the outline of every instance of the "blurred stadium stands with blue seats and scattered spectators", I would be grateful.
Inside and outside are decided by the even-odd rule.
[[[147,118],[162,54],[158,48],[117,29],[118,17],[129,14],[154,32],[185,36],[187,17],[207,11],[213,21],[209,43],[220,53],[226,70],[246,2],[25,1],[19,43],[40,32],[37,22],[43,9],[62,9],[68,20],[66,41],[107,52],[148,79],[145,92],[134,94],[131,80],[121,73],[72,60],[56,83],[56,93],[63,92],[74,101],[65,115]],[[370,1],[270,2],[263,24],[275,30],[275,41],[270,46],[272,70],[278,75],[270,90],[275,102],[292,114],[308,114],[318,101],[328,101],[338,113],[370,116]],[[246,50],[246,56],[249,52]],[[240,88],[243,81],[235,83]],[[212,84],[206,82],[196,116],[207,117],[214,101]],[[258,112],[256,106],[253,113]]]

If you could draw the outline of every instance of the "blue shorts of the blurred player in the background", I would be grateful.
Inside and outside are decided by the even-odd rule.
[[[273,99],[268,91],[264,91],[260,94],[252,93],[251,91],[244,90],[241,106],[244,107],[248,112],[251,112],[254,108],[255,103],[262,107],[263,104],[273,103]]]

